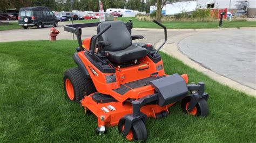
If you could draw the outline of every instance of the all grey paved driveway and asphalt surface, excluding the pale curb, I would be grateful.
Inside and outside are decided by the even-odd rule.
[[[73,39],[71,33],[63,30],[63,26],[70,23],[61,22],[58,24],[57,30],[60,31],[60,34],[58,34],[57,39]],[[49,40],[50,27],[0,31],[0,42]],[[190,59],[215,73],[255,89],[255,32],[255,28],[210,31],[168,30],[167,35],[168,40],[176,42],[180,51]],[[83,28],[82,39],[91,37],[96,33],[96,27]],[[187,33],[191,33],[190,36],[181,41],[172,40],[173,37]],[[144,39],[134,42],[151,43],[152,45],[156,45],[159,40],[164,39],[163,31],[160,29],[134,28],[132,34],[144,36]]]

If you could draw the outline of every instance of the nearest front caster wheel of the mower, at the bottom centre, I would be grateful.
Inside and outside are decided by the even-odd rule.
[[[125,120],[124,119],[120,119],[119,123],[118,123],[118,130],[120,134],[124,134],[124,125],[125,125]],[[125,136],[125,138],[127,140],[133,141],[143,141],[147,139],[147,130],[146,130],[146,126],[144,124],[144,122],[139,119],[137,121],[135,121],[132,124],[132,128],[130,129],[130,131],[128,132],[128,134]]]

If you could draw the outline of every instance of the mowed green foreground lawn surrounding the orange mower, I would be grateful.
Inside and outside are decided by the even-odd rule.
[[[63,73],[76,67],[77,41],[0,43],[0,142],[124,142],[117,127],[95,134],[97,119],[65,97]],[[148,142],[256,142],[256,99],[213,81],[161,53],[167,74],[204,81],[207,117],[172,106],[166,118],[146,121]]]

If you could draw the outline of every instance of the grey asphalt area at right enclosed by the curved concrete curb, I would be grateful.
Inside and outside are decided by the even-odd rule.
[[[256,29],[230,29],[203,32],[186,37],[179,50],[239,83],[256,89]]]

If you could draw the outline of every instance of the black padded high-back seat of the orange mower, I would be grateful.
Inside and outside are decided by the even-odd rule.
[[[108,59],[115,63],[124,63],[143,58],[147,55],[145,48],[132,45],[132,37],[122,21],[103,22],[97,27],[97,32],[111,25],[109,30],[99,37],[99,41],[107,41],[110,45],[104,47]]]

